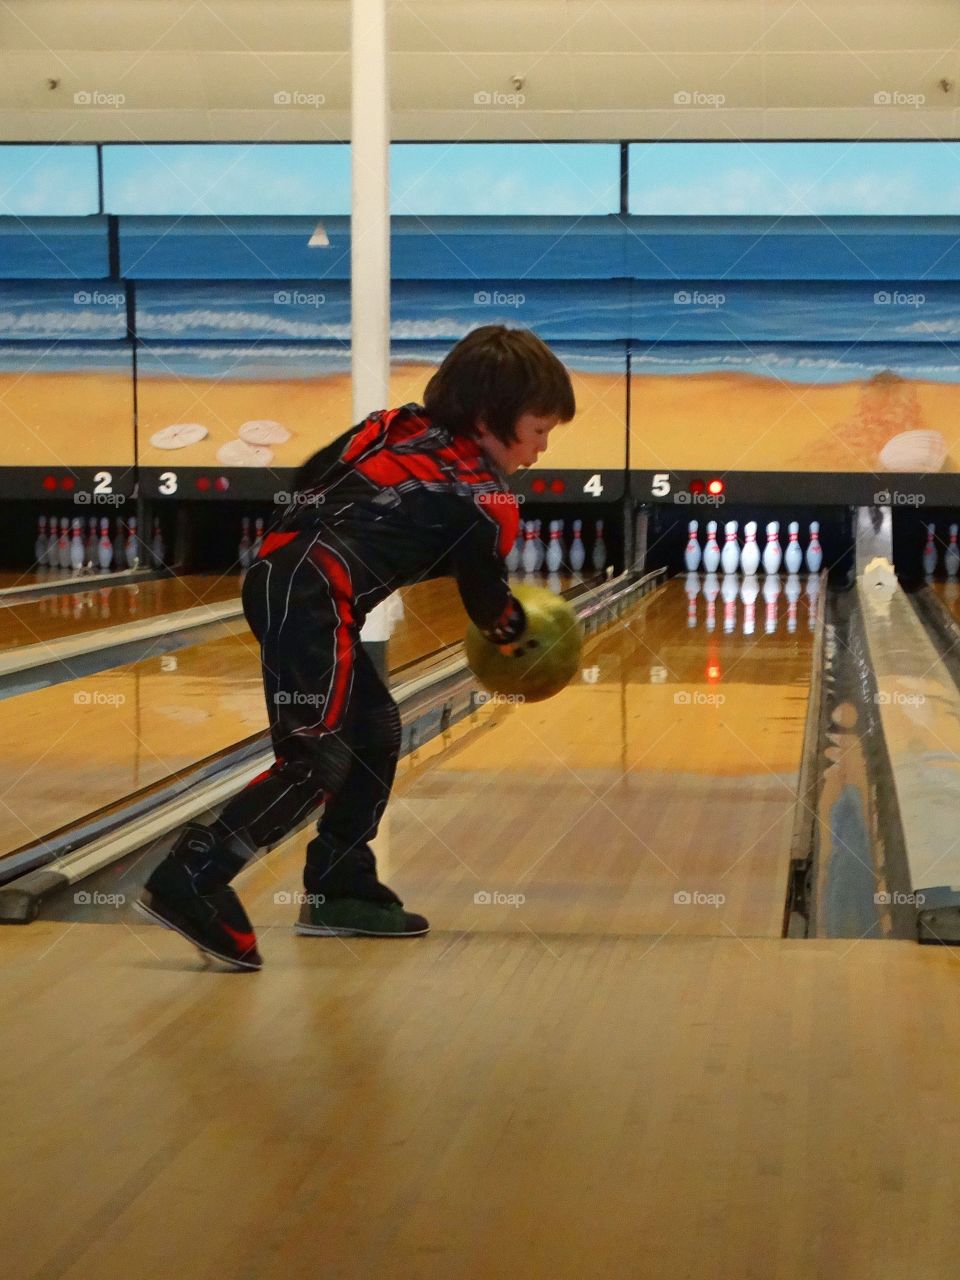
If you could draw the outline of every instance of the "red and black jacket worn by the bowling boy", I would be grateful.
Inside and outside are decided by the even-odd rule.
[[[300,468],[261,556],[316,531],[347,562],[360,621],[408,582],[452,576],[476,626],[503,644],[524,628],[504,558],[517,499],[480,445],[420,404],[371,413]]]

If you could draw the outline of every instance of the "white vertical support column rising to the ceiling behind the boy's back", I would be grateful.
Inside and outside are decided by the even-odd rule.
[[[351,0],[353,421],[389,408],[390,95],[387,0]]]

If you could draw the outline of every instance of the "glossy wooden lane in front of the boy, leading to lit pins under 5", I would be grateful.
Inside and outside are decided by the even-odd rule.
[[[730,634],[694,603],[689,626],[684,580],[667,584],[588,644],[558,698],[490,705],[401,762],[380,856],[412,909],[548,947],[780,936],[818,599],[781,591],[773,634],[764,608],[746,636],[749,602]],[[289,924],[275,895],[300,888],[306,838],[246,873],[256,923]]]

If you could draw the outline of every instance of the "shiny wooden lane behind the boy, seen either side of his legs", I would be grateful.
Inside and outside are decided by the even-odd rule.
[[[187,608],[191,599],[211,600],[220,590],[227,593],[220,598],[229,598],[230,585],[207,579],[196,590],[191,581],[175,590],[177,580],[119,586],[111,608],[128,609],[127,593],[147,588],[174,589],[160,598],[170,609]],[[392,666],[462,639],[466,616],[452,581],[407,589],[404,605],[390,644]],[[0,623],[10,612],[0,609]],[[221,623],[215,639],[177,654],[5,699],[0,858],[266,727],[259,648],[242,617]]]

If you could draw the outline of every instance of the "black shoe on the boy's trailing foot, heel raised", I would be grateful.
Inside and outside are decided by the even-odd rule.
[[[204,955],[233,969],[262,968],[253,925],[241,900],[229,884],[206,882],[191,865],[189,851],[184,854],[182,838],[154,870],[133,905],[187,938]]]

